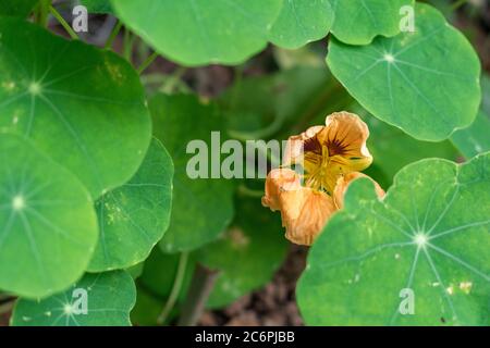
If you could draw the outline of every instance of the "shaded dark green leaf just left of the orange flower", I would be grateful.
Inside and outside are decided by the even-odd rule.
[[[225,140],[224,133],[219,135],[220,140],[215,133],[218,144],[211,144],[211,132],[221,132],[223,120],[216,105],[204,105],[194,96],[157,95],[149,105],[155,136],[169,150],[175,165],[170,226],[160,247],[166,252],[192,250],[216,239],[233,216],[233,182],[211,178],[216,164],[220,170],[219,142]],[[200,145],[204,141],[206,148],[187,153],[192,140]],[[188,161],[196,156],[206,158],[206,177],[191,178],[187,173]]]

